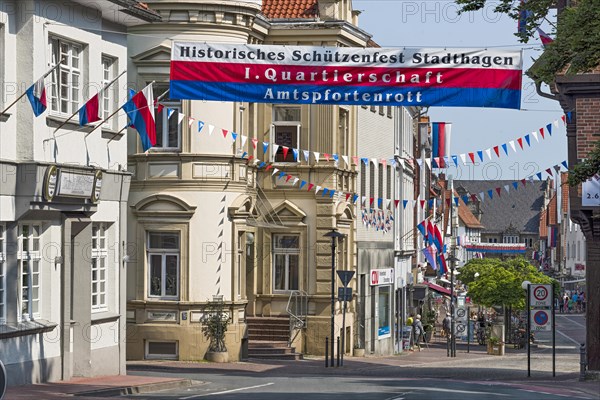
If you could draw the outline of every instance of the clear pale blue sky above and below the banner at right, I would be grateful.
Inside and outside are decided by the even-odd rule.
[[[494,13],[493,5],[458,15],[456,4],[450,0],[353,0],[352,4],[362,11],[359,26],[382,47],[523,48],[524,71],[532,58],[541,54],[539,38],[520,43],[514,36],[516,21]],[[548,22],[541,27],[546,33],[552,32]],[[563,111],[558,102],[540,97],[533,82],[524,76],[521,110],[431,107],[428,114],[432,121],[452,123],[451,152],[459,154],[485,150],[538,131],[560,119]],[[566,130],[562,122],[559,126],[552,137],[546,136],[539,143],[532,138],[532,146],[525,151],[509,150],[509,157],[499,159],[492,152],[492,161],[484,156],[483,164],[461,165],[460,170],[450,168],[448,173],[457,179],[516,180],[544,171],[566,159]]]

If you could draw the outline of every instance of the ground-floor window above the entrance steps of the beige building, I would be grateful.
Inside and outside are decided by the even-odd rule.
[[[273,235],[273,290],[298,290],[300,236]]]

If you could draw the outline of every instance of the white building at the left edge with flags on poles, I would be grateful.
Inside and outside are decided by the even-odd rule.
[[[125,374],[126,119],[95,130],[67,120],[126,68],[126,25],[157,16],[135,2],[89,3],[0,1],[0,109],[57,66],[43,114],[22,98],[0,116],[0,357],[10,385]],[[122,78],[101,94],[101,117],[125,87]]]

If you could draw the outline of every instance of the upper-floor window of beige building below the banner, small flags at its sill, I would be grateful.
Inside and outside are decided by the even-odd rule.
[[[300,147],[300,107],[273,107],[273,125],[271,143],[279,145],[276,154],[272,154],[276,162],[293,162],[292,149]],[[288,153],[284,157],[283,147]]]

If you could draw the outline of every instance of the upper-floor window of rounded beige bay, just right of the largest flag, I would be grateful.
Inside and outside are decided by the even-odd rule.
[[[157,88],[154,96],[159,97],[167,89]],[[156,145],[153,150],[179,150],[181,138],[181,126],[179,123],[179,113],[181,112],[181,101],[163,97],[160,101],[163,109],[158,112],[158,104],[154,107],[154,117],[156,118]]]

